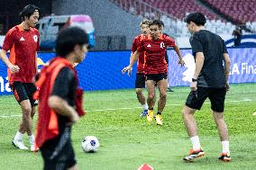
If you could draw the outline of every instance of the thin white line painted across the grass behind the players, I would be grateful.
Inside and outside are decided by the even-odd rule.
[[[226,101],[225,103],[241,103],[241,102],[252,102],[252,101],[256,101],[254,99],[242,99],[242,100],[238,100],[238,101]],[[166,104],[166,106],[180,106],[180,105],[184,105],[184,103],[179,103],[179,104]],[[209,102],[206,102],[206,104],[209,104]],[[86,112],[105,112],[105,111],[119,111],[119,110],[133,110],[133,109],[139,109],[142,108],[142,106],[137,106],[137,107],[123,107],[123,108],[114,108],[114,109],[96,109],[96,110],[89,110]],[[0,115],[0,119],[4,119],[4,118],[14,118],[14,117],[22,117],[22,114],[16,114],[16,115]]]

